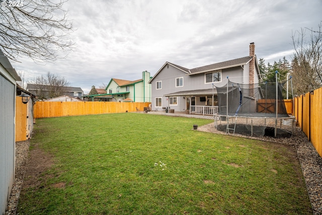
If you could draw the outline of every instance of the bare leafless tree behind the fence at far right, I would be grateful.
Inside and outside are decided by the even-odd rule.
[[[294,56],[292,76],[297,94],[304,94],[322,86],[322,22],[318,30],[301,29],[292,35]],[[310,31],[306,39],[306,31]]]

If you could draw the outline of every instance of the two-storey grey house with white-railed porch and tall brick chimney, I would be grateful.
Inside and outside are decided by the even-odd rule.
[[[217,87],[231,82],[254,84],[260,80],[255,44],[250,44],[250,56],[188,69],[166,62],[149,81],[152,110],[174,109],[190,113],[205,110],[213,114],[217,105]],[[212,108],[210,108],[212,107]],[[204,112],[203,112],[204,113]]]

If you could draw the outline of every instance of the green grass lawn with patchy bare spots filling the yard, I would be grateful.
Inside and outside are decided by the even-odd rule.
[[[292,148],[192,130],[212,120],[120,113],[36,122],[31,150],[53,165],[23,188],[17,214],[312,214]]]

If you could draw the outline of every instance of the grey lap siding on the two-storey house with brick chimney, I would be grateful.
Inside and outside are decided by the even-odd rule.
[[[222,87],[227,84],[226,77],[232,82],[240,83],[243,81],[243,68],[241,66],[221,70],[221,82],[217,82],[214,86]],[[183,77],[183,87],[176,87],[176,78]],[[156,82],[162,81],[162,89],[156,89]],[[151,81],[151,108],[158,111],[162,108],[155,107],[155,98],[162,98],[162,107],[170,107],[175,111],[184,111],[186,109],[186,97],[178,96],[177,105],[170,105],[169,98],[164,95],[189,90],[203,90],[213,88],[212,83],[205,83],[205,73],[196,75],[187,75],[184,71],[166,64],[162,70]],[[206,105],[196,99],[195,105]]]

